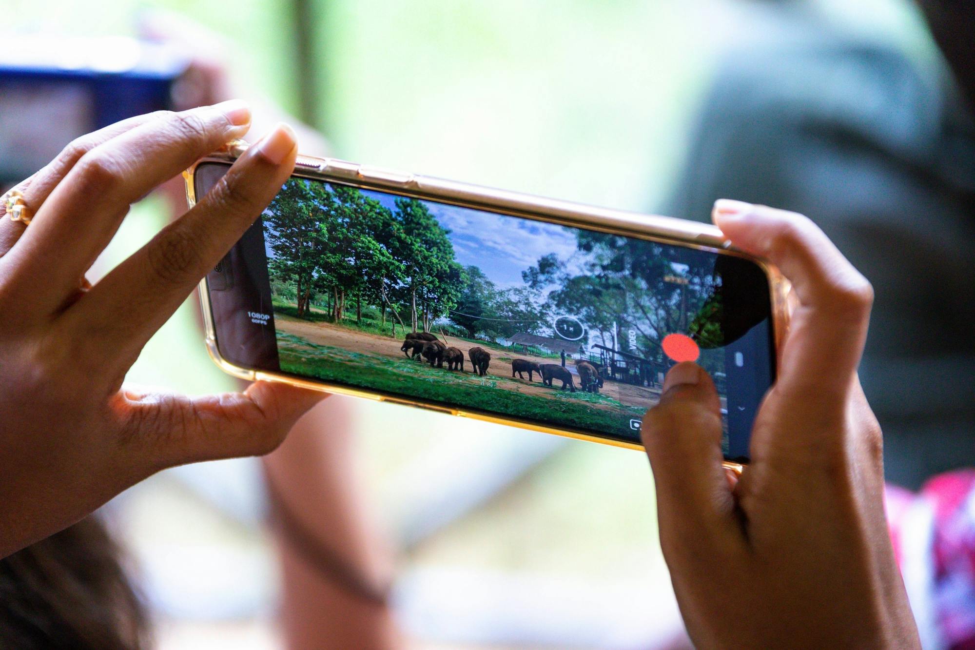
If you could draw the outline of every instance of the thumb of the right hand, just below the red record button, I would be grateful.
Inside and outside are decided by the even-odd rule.
[[[692,548],[730,531],[734,500],[722,467],[721,400],[708,373],[690,362],[671,368],[660,403],[643,417],[641,435],[665,550]]]

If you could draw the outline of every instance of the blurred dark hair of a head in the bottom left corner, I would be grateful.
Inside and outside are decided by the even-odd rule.
[[[137,650],[145,613],[96,516],[0,559],[0,648]]]

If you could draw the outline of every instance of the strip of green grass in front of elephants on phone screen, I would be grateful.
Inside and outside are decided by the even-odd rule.
[[[629,418],[643,409],[627,406],[604,395],[553,389],[551,396],[531,395],[501,387],[519,380],[470,372],[450,372],[428,363],[355,352],[333,345],[313,344],[292,334],[278,333],[281,369],[306,377],[446,402],[509,416],[588,428],[603,433],[631,435]],[[465,364],[465,367],[467,364]],[[615,412],[592,408],[611,406]]]

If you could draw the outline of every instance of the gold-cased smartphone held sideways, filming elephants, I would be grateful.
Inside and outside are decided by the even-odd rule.
[[[245,149],[187,170],[191,206]],[[740,467],[788,288],[711,225],[302,155],[200,297],[237,377],[633,449],[667,370],[696,361]]]

